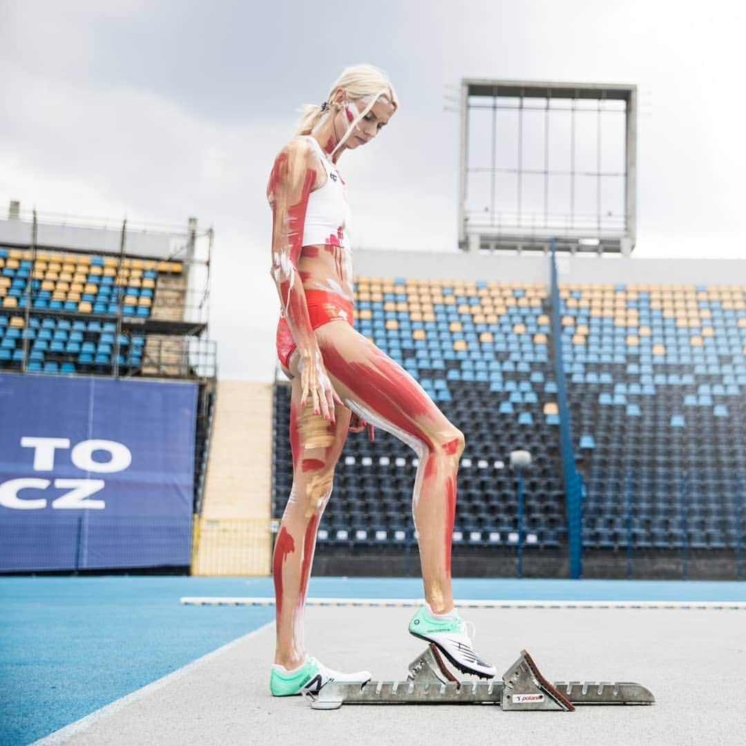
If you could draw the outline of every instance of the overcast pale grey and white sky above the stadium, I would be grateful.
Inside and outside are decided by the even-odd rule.
[[[744,28],[721,0],[0,0],[0,210],[212,224],[220,377],[271,380],[266,180],[346,66],[401,102],[339,162],[356,245],[456,250],[451,99],[477,77],[636,84],[636,254],[742,257]]]

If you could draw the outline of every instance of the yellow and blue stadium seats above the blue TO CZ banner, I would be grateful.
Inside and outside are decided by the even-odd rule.
[[[128,330],[115,336],[113,321],[86,317],[165,318],[153,313],[157,288],[180,278],[183,266],[72,251],[34,256],[30,249],[0,247],[0,271],[0,369],[22,368],[28,339],[29,372],[106,374],[118,342],[119,366],[135,374],[142,368],[145,335]],[[183,318],[183,295],[181,303],[171,293],[167,301],[162,307]],[[29,303],[33,315],[25,328]]]

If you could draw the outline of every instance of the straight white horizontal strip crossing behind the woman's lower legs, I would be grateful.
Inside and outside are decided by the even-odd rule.
[[[274,606],[274,597],[184,596],[182,606]],[[419,607],[423,598],[307,598],[306,606]],[[746,610],[746,601],[457,601],[460,609],[715,609]]]

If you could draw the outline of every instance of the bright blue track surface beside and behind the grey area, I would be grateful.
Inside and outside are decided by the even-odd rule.
[[[180,606],[181,596],[272,596],[271,578],[0,578],[0,744],[28,744],[275,615]],[[309,595],[419,598],[419,578],[317,577]],[[454,579],[462,599],[746,601],[746,583]],[[270,652],[268,651],[268,662]]]

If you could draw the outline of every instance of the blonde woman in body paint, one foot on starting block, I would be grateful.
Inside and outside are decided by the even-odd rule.
[[[272,207],[272,278],[280,295],[278,358],[292,379],[292,489],[280,523],[272,570],[277,648],[273,695],[316,692],[328,680],[365,682],[307,656],[303,613],[316,530],[333,486],[348,430],[377,425],[416,452],[413,517],[426,603],[410,621],[468,674],[492,677],[454,608],[451,538],[456,474],[464,436],[395,360],[354,329],[350,213],[336,164],[382,130],[398,99],[383,72],[348,67],[321,107],[306,107],[298,134],[278,154],[267,186]],[[327,113],[322,124],[316,125]],[[311,134],[313,133],[313,134]]]

